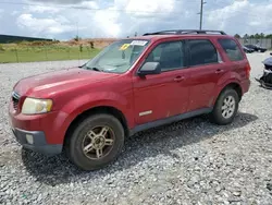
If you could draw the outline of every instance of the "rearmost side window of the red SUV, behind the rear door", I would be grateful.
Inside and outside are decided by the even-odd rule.
[[[244,59],[244,56],[233,39],[219,39],[219,44],[222,46],[231,61],[239,61]]]

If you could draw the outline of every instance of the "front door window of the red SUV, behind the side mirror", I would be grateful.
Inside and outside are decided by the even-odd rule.
[[[158,45],[148,56],[146,61],[160,62],[162,71],[184,67],[184,52],[182,41],[171,41]]]

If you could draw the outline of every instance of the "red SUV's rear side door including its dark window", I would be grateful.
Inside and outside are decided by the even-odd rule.
[[[226,72],[209,39],[188,39],[190,89],[188,111],[211,107],[219,79]]]

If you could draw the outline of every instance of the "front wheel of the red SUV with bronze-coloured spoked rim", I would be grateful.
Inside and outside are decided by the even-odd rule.
[[[78,168],[90,171],[113,162],[123,145],[124,129],[121,122],[113,116],[99,113],[86,118],[74,129],[67,138],[65,152]]]

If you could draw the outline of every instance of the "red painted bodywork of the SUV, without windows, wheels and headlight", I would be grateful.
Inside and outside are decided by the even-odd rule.
[[[137,76],[138,68],[156,45],[191,38],[210,39],[223,62]],[[238,44],[245,59],[230,61],[218,38],[231,38],[237,43],[235,38],[222,35],[143,36],[137,39],[149,39],[150,44],[126,73],[74,68],[23,79],[14,86],[14,91],[22,96],[20,109],[14,112],[10,105],[12,125],[27,131],[44,131],[49,144],[62,144],[69,125],[90,108],[116,108],[124,114],[128,128],[133,129],[150,121],[212,107],[220,92],[230,83],[237,83],[244,95],[249,88],[250,72],[246,55]],[[53,110],[45,114],[22,114],[21,108],[27,96],[52,99]],[[140,112],[148,110],[152,110],[152,113],[139,117]]]

